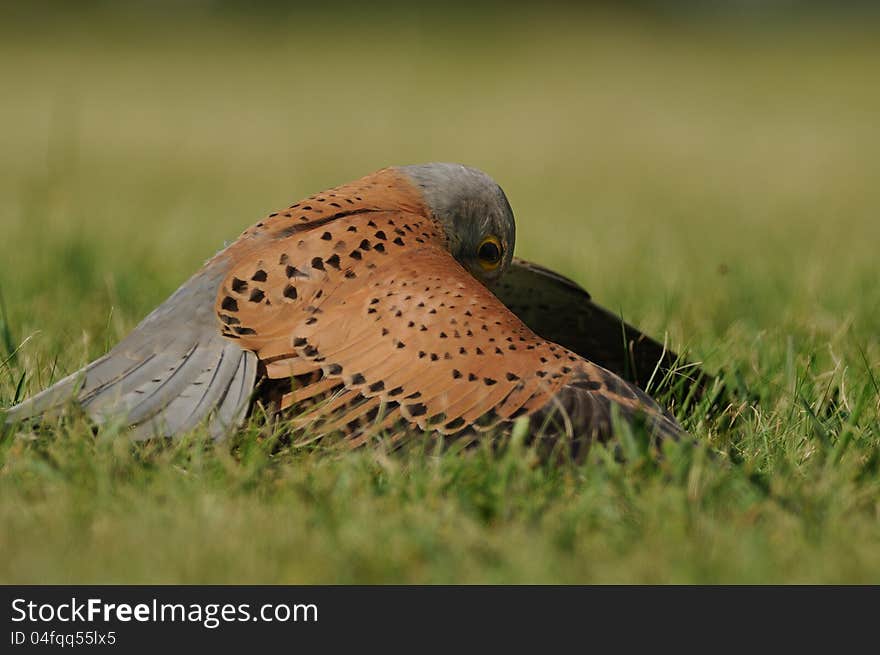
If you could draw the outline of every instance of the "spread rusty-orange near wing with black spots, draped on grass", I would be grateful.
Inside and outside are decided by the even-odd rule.
[[[372,211],[268,240],[221,284],[224,334],[292,380],[281,405],[299,405],[294,425],[313,434],[457,434],[559,409],[593,439],[615,407],[680,432],[639,389],[535,335],[443,239],[422,214]]]

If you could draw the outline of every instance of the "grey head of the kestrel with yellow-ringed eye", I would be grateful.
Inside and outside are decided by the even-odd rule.
[[[513,257],[516,226],[504,191],[491,177],[461,164],[401,166],[443,225],[449,249],[478,280],[491,285]]]

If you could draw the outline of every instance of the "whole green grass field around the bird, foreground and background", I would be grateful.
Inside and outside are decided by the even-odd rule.
[[[0,581],[880,582],[867,22],[0,25],[0,407],[105,352],[265,212],[431,160],[489,171],[518,254],[756,396],[729,426],[680,417],[719,456],[659,463],[7,434]]]

